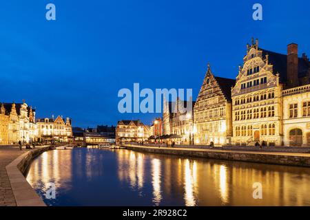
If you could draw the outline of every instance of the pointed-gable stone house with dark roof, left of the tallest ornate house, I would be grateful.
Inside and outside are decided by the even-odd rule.
[[[231,87],[236,80],[220,78],[207,73],[194,106],[195,144],[231,144]]]

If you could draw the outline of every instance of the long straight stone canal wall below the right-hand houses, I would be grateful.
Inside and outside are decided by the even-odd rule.
[[[231,151],[221,149],[199,149],[199,148],[169,148],[123,145],[128,150],[145,153],[160,153],[177,155],[182,157],[202,157],[207,159],[225,159],[240,162],[255,162],[262,164],[278,164],[287,166],[310,167],[310,153],[290,152],[258,152],[258,151]]]

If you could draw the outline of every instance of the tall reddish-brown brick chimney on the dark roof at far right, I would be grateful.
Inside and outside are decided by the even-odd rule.
[[[298,86],[298,45],[296,43],[287,45],[287,85]]]

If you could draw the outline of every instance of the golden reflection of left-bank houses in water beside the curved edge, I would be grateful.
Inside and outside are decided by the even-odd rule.
[[[35,159],[27,175],[27,181],[33,188],[46,190],[50,182],[56,188],[69,190],[72,181],[72,151],[48,151]],[[35,186],[35,185],[41,186]]]

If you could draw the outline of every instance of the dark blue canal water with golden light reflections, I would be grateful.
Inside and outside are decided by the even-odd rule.
[[[125,149],[47,151],[27,181],[48,206],[310,206],[310,168]],[[55,199],[45,198],[49,183]],[[254,199],[254,183],[262,199]]]

